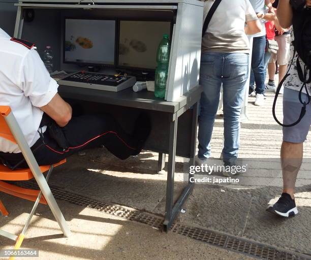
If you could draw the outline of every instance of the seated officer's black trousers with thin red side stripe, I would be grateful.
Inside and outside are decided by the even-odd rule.
[[[108,114],[83,115],[73,117],[70,122],[61,127],[69,148],[61,149],[48,133],[44,133],[44,142],[40,138],[32,150],[38,164],[51,165],[86,148],[104,145],[111,153],[120,159],[140,153],[142,143],[133,135],[126,133],[115,119]],[[22,153],[0,153],[0,157],[10,166],[15,166],[22,159]],[[27,168],[23,161],[18,168]]]

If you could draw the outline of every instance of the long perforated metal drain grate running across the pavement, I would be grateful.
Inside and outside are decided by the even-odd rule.
[[[16,182],[16,185],[38,189],[36,182]],[[152,228],[162,230],[163,217],[153,215],[140,210],[112,205],[105,202],[100,202],[90,199],[80,194],[66,191],[57,186],[50,185],[55,199],[67,201],[79,206],[88,207],[91,209],[103,211],[108,214],[116,215],[118,217],[126,218],[139,223],[147,224]],[[190,226],[174,223],[170,231],[195,240],[202,241],[209,245],[221,247],[223,249],[231,250],[234,252],[246,254],[248,256],[267,259],[267,260],[311,260],[311,256],[274,248],[272,246],[264,245],[254,241],[241,239],[238,237],[222,234],[219,232],[208,231],[204,229],[193,228]]]

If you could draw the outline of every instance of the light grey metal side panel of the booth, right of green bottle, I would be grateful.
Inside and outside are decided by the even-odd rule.
[[[203,3],[201,4],[202,6],[178,4],[167,101],[176,101],[199,84],[203,27]]]

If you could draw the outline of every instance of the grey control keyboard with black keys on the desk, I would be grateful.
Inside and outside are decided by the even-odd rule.
[[[133,87],[136,83],[135,77],[114,76],[94,72],[77,72],[58,80],[59,85],[91,88],[107,91],[120,91]]]

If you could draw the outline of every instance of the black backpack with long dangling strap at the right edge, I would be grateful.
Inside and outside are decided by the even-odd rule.
[[[295,2],[295,0],[293,1]],[[304,2],[304,1],[303,1]],[[305,115],[305,108],[306,105],[310,103],[310,95],[308,93],[307,85],[311,83],[311,7],[306,7],[305,3],[299,4],[296,7],[293,8],[293,30],[294,30],[294,55],[293,59],[291,61],[290,67],[288,69],[288,72],[284,79],[279,83],[272,107],[272,114],[275,119],[275,121],[284,126],[284,127],[290,127],[298,124],[303,116]],[[301,108],[301,112],[299,115],[299,118],[296,122],[292,124],[282,124],[279,122],[275,115],[275,104],[277,100],[277,96],[279,94],[279,90],[281,89],[283,83],[285,80],[290,76],[289,71],[291,66],[293,65],[294,57],[298,54],[296,67],[298,71],[299,79],[302,83],[301,88],[299,90],[299,101],[303,105]],[[304,66],[301,66],[300,60],[303,61]],[[307,95],[307,102],[303,102],[301,100],[301,93],[302,90],[305,89],[306,95]]]

